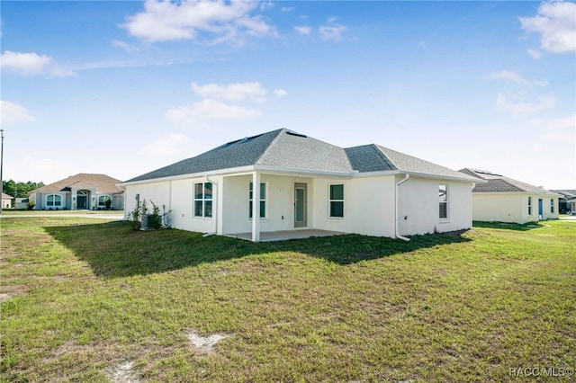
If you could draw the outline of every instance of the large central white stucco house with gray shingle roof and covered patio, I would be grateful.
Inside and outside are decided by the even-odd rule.
[[[127,217],[148,200],[172,211],[172,227],[259,241],[303,229],[401,237],[469,228],[475,182],[386,147],[345,149],[278,129],[120,186]]]

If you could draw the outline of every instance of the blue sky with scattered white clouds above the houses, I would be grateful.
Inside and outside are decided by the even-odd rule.
[[[2,1],[4,180],[287,128],[576,188],[573,2]]]

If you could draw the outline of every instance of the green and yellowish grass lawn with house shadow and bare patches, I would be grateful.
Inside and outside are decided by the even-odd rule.
[[[576,222],[263,244],[0,224],[1,381],[574,379]]]

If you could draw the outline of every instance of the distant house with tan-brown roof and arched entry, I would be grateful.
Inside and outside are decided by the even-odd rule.
[[[95,210],[106,209],[111,200],[112,209],[124,209],[124,191],[116,184],[120,180],[105,174],[80,173],[30,192],[30,200],[37,210]]]

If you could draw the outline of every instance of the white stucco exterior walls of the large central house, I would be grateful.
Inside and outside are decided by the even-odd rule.
[[[296,177],[261,174],[266,183],[266,218],[260,231],[294,229],[294,185],[308,188],[308,228],[319,228],[367,236],[395,235],[395,190],[403,176],[356,178]],[[252,230],[248,214],[249,183],[252,174],[210,176],[214,184],[213,217],[193,217],[193,184],[206,179],[190,178],[126,186],[126,216],[140,202],[154,201],[162,211],[171,209],[172,227],[218,234],[247,233]],[[344,184],[344,218],[329,217],[329,185]],[[438,184],[449,188],[449,218],[438,218]],[[445,232],[472,227],[472,184],[411,177],[401,184],[399,212],[401,235]],[[537,207],[536,207],[537,209]]]

